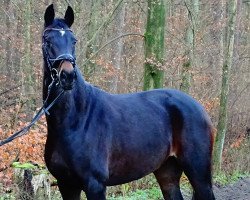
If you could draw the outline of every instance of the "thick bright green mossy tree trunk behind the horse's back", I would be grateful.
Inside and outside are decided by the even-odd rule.
[[[165,0],[148,0],[145,33],[144,90],[163,87]]]

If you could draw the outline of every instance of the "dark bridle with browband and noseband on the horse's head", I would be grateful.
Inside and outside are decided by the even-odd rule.
[[[46,31],[70,31],[70,32],[72,32],[72,30],[71,29],[63,29],[63,28],[61,28],[61,29],[60,28],[46,28],[43,31],[43,36],[42,36],[43,37],[43,43],[42,43],[43,57],[46,60],[47,65],[49,67],[52,80],[56,80],[56,79],[59,80],[59,73],[57,71],[57,68],[54,67],[55,63],[56,62],[61,63],[64,60],[67,60],[73,65],[73,68],[75,69],[76,58],[75,58],[75,56],[73,56],[71,54],[61,54],[61,55],[57,56],[56,58],[51,58],[48,51],[47,51],[47,48],[46,48],[46,39],[45,39],[45,32]]]

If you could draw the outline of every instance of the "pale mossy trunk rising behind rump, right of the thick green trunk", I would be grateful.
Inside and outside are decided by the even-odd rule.
[[[183,63],[181,72],[181,85],[180,89],[186,93],[189,93],[191,86],[191,71],[194,64],[195,53],[195,32],[197,29],[197,18],[199,12],[199,0],[190,0],[189,4],[186,4],[188,10],[189,24],[186,29],[185,43],[186,43],[186,61]]]

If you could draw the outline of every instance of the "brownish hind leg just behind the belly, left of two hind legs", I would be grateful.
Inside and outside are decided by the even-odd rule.
[[[175,157],[169,157],[167,161],[154,172],[165,200],[183,200],[179,186],[181,174],[182,168]]]

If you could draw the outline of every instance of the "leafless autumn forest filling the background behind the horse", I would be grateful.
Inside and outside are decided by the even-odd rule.
[[[226,44],[225,35],[229,35],[226,31],[228,2],[166,1],[164,58],[158,65],[164,72],[165,88],[182,89],[188,77],[187,92],[203,104],[215,127],[221,107],[226,48],[223,44]],[[86,81],[111,93],[143,90],[144,65],[150,62],[145,60],[146,0],[3,0],[0,4],[0,139],[27,124],[42,105],[41,34],[43,14],[50,3],[54,3],[58,17],[63,17],[67,5],[75,11],[72,29],[78,39],[76,62]],[[250,1],[236,3],[222,170],[249,173]],[[191,67],[187,68],[187,62]],[[6,187],[13,181],[10,165],[14,161],[44,165],[45,119],[30,132],[0,147],[0,182]]]

